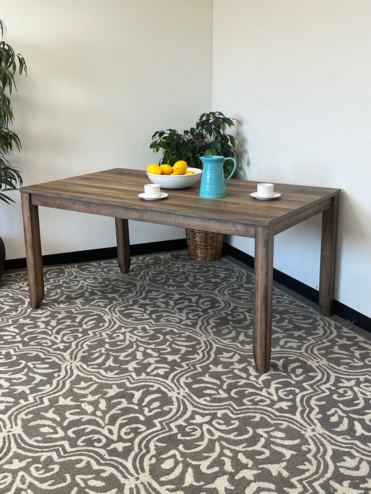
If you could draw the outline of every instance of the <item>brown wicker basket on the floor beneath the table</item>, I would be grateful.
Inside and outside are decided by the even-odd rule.
[[[186,228],[189,256],[196,261],[215,261],[223,250],[223,233]]]

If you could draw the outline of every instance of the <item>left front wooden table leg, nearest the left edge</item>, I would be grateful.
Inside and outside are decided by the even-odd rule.
[[[21,197],[30,304],[36,308],[44,298],[39,213],[38,206],[32,204],[31,194],[22,192]]]

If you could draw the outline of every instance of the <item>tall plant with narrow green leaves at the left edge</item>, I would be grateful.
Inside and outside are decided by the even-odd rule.
[[[10,44],[3,40],[6,33],[6,26],[0,19],[0,199],[8,204],[10,199],[4,192],[15,190],[22,185],[22,176],[16,167],[10,165],[6,154],[13,149],[21,149],[21,141],[18,135],[10,129],[13,124],[14,115],[10,101],[13,90],[17,90],[15,85],[16,74],[27,74],[26,62],[22,55],[15,53]]]

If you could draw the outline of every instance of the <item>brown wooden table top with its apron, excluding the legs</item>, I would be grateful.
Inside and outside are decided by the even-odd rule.
[[[231,179],[227,195],[219,199],[200,197],[200,182],[186,189],[164,189],[166,199],[145,201],[138,197],[148,176],[143,170],[113,168],[20,188],[38,206],[65,208],[127,219],[254,236],[256,226],[283,231],[329,208],[338,188],[275,183],[278,199],[251,197],[256,181]]]

